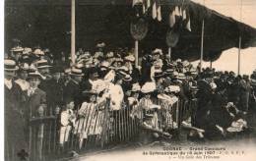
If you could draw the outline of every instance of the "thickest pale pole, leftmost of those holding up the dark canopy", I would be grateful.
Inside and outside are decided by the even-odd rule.
[[[76,0],[71,0],[71,61],[75,64],[75,54],[76,54]]]

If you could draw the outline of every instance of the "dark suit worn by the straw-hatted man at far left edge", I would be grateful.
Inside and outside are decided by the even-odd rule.
[[[27,150],[28,144],[25,136],[25,119],[21,103],[23,102],[21,87],[12,81],[12,88],[4,86],[5,92],[5,154],[15,154],[22,149]],[[7,157],[6,155],[5,157]],[[17,156],[16,156],[17,157]],[[8,158],[6,158],[7,160]],[[15,158],[9,158],[15,160]]]

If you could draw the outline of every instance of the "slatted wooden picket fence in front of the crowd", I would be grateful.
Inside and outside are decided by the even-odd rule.
[[[163,122],[166,122],[166,118],[164,118],[166,111],[172,116],[171,122],[176,124],[177,129],[180,129],[181,121],[190,115],[189,111],[192,108],[191,106],[194,105],[190,101],[183,100],[178,100],[172,106],[167,107],[161,104],[160,101],[159,104],[162,107],[165,106],[165,111],[159,110],[158,112],[159,129],[164,124]],[[137,136],[141,133],[142,121],[130,116],[132,109],[126,106],[121,110],[111,111],[108,108],[108,103],[104,106],[100,113],[95,113],[95,125],[90,123],[93,116],[85,118],[84,123],[77,122],[75,127],[84,124],[84,129],[88,129],[87,126],[91,126],[90,128],[93,129],[93,134],[87,132],[88,137],[83,139],[83,143],[81,143],[78,128],[70,127],[65,129],[65,132],[60,132],[59,114],[30,119],[28,133],[29,159],[31,161],[55,160],[61,157],[68,157],[70,151],[86,153],[105,149],[120,143],[127,143],[128,141],[138,141]],[[98,119],[98,117],[100,118]],[[96,126],[100,128],[96,129]],[[95,133],[96,131],[99,132]],[[60,144],[60,133],[64,134],[62,135],[64,136],[62,144]]]

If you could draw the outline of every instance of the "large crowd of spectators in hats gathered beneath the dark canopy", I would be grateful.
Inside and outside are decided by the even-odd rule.
[[[256,107],[256,70],[251,76],[201,71],[158,48],[136,67],[133,51],[105,51],[103,42],[96,44],[96,52],[79,49],[75,63],[61,55],[55,59],[49,49],[21,46],[6,55],[5,140],[16,151],[28,143],[29,120],[51,115],[59,117],[60,145],[73,132],[82,146],[89,135],[102,133],[107,102],[113,118],[129,108],[129,116],[142,127],[168,134],[178,123],[167,107],[179,99],[196,101],[183,123],[194,128],[189,137],[200,138],[247,129],[248,111]]]

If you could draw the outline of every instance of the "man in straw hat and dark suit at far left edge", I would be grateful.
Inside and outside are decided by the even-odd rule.
[[[24,134],[24,111],[20,107],[22,89],[13,80],[17,70],[15,61],[4,60],[5,152],[6,154],[12,154],[11,152],[14,154],[14,156],[6,155],[7,160],[18,160],[17,153],[22,149],[27,150]]]

